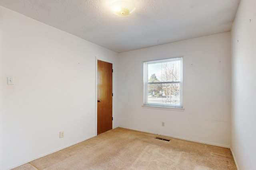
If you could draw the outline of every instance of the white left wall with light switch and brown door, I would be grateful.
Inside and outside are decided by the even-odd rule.
[[[113,62],[117,70],[117,53],[0,11],[0,169],[5,170],[96,135],[95,58]],[[7,85],[7,76],[15,85]],[[114,96],[114,117],[115,103]]]

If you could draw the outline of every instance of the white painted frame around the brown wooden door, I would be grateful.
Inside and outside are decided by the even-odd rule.
[[[97,128],[98,128],[98,108],[97,108],[97,98],[98,98],[98,60],[100,61],[104,61],[104,62],[107,62],[107,63],[111,63],[112,64],[112,69],[114,69],[114,62],[113,61],[110,61],[110,60],[107,60],[107,59],[102,59],[102,58],[99,58],[99,57],[95,57],[95,136],[97,136]],[[114,75],[114,74],[113,74]],[[114,76],[112,76],[112,92],[114,91]],[[114,97],[114,96],[113,96]],[[113,108],[114,108],[114,102],[113,102],[113,98],[112,98],[112,116],[113,116]],[[113,122],[112,122],[112,129],[113,129]]]

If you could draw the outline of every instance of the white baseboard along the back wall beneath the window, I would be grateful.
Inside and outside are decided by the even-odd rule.
[[[120,126],[120,127],[122,127],[122,126]],[[132,128],[127,128],[127,127],[122,127],[122,128],[131,129],[131,130],[134,130],[134,131],[141,131],[141,132],[156,134],[156,132],[144,131],[144,130],[140,130],[140,129],[132,129]],[[217,147],[230,148],[230,146],[228,146],[228,145],[220,145],[220,144],[209,143],[209,142],[205,142],[205,141],[197,141],[197,140],[187,139],[187,138],[178,137],[178,136],[174,136],[174,135],[166,135],[166,134],[157,134],[157,135],[162,135],[162,136],[166,136],[166,137],[173,137],[173,138],[176,138],[176,139],[182,139],[182,140],[191,141],[191,142],[198,142],[198,143],[203,143],[203,144],[207,144],[207,145],[214,145],[214,146],[217,146]]]

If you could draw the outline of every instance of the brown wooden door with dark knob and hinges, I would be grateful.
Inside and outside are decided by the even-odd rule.
[[[97,135],[112,129],[112,63],[98,60]]]

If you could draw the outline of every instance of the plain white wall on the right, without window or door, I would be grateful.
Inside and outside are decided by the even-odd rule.
[[[251,22],[250,22],[251,20]],[[238,40],[238,41],[237,41]],[[241,0],[232,27],[231,150],[238,169],[256,169],[256,1]]]

